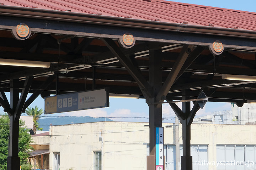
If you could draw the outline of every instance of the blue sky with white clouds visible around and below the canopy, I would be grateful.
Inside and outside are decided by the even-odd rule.
[[[214,6],[229,8],[242,11],[256,12],[255,5],[256,0],[224,0],[224,1],[208,1],[208,0],[176,0],[176,2]],[[9,94],[7,93],[9,98]],[[38,97],[32,104],[31,107],[38,106],[44,109],[44,100]],[[179,104],[181,105],[181,103]],[[230,110],[230,103],[216,103],[207,102],[203,110],[199,110],[196,117],[211,114],[214,111]],[[2,107],[0,113],[3,112]],[[163,104],[162,107],[163,117],[166,117],[167,122],[173,122],[175,114],[172,111],[169,104]],[[148,121],[148,105],[144,99],[127,99],[127,98],[110,98],[109,108],[90,109],[85,111],[67,112],[67,113],[56,113],[47,116],[92,116],[92,117],[126,117],[126,118],[112,118],[117,121]],[[132,118],[137,117],[137,118]]]

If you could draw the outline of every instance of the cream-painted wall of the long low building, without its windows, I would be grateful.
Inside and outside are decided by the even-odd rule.
[[[148,123],[98,122],[52,126],[50,169],[53,169],[53,153],[59,152],[60,170],[94,170],[93,151],[102,151],[102,170],[120,167],[122,170],[146,170],[149,127],[145,124]],[[181,124],[179,126],[182,144]],[[252,135],[255,131],[254,125],[192,124],[191,144],[208,145],[208,161],[216,161],[216,145],[256,145],[256,135]],[[164,128],[164,143],[174,145],[173,135],[174,126]],[[39,139],[36,142],[43,143]],[[215,169],[209,166],[209,170]]]

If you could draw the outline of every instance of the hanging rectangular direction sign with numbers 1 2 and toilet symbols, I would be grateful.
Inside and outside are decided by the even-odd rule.
[[[109,107],[108,88],[44,98],[44,114]]]

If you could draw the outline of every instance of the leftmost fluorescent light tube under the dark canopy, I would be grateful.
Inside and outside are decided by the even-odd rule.
[[[50,67],[50,62],[28,61],[28,60],[12,60],[12,59],[2,59],[2,58],[0,58],[0,65],[49,68]]]

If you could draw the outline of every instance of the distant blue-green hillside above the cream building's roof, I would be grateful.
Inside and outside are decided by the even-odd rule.
[[[39,119],[39,127],[43,130],[49,130],[50,124],[52,125],[67,125],[67,124],[77,124],[77,123],[90,123],[99,121],[113,121],[108,118],[92,118],[86,117],[59,117],[59,118],[44,118]]]

